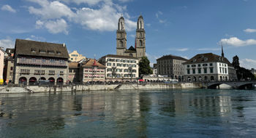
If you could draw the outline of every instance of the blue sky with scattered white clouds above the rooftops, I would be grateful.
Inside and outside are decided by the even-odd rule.
[[[118,18],[125,19],[127,48],[143,15],[151,65],[173,54],[187,59],[212,52],[256,68],[255,0],[0,0],[0,46],[15,39],[66,44],[89,58],[116,54]]]

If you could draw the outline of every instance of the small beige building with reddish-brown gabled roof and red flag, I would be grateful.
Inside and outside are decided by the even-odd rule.
[[[80,82],[103,82],[105,81],[105,66],[97,62],[95,59],[86,60],[80,63],[79,71]]]

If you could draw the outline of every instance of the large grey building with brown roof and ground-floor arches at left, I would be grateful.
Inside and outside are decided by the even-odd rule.
[[[34,84],[49,80],[50,84],[67,82],[69,54],[64,44],[16,39],[13,82]]]

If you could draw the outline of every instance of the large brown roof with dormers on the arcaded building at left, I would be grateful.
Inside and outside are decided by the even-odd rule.
[[[54,44],[23,39],[16,39],[15,54],[69,58],[67,47],[64,44]]]

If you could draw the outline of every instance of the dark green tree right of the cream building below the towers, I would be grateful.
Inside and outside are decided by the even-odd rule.
[[[148,57],[141,57],[141,60],[139,62],[139,76],[153,73],[149,64],[150,62],[148,60]]]

